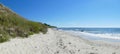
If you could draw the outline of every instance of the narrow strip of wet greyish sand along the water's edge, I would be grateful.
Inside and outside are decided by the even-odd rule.
[[[94,40],[94,39],[87,39],[87,38],[84,38],[84,37],[81,37],[80,35],[78,35],[78,34],[73,34],[73,33],[71,33],[71,32],[66,32],[66,31],[64,31],[64,30],[60,30],[61,32],[65,32],[65,33],[67,33],[67,34],[70,34],[71,36],[73,36],[73,37],[77,37],[77,38],[80,38],[80,39],[82,39],[82,40],[84,40],[84,41],[87,41],[87,42],[91,42],[91,43],[94,43],[94,44],[98,44],[98,45],[100,45],[100,43],[99,42],[102,42],[102,43],[104,43],[104,44],[106,44],[106,45],[111,45],[111,46],[118,46],[118,47],[120,47],[120,42],[115,42],[115,41],[106,41],[106,40],[102,40],[102,39],[97,39],[97,40]],[[88,37],[88,36],[87,36]]]

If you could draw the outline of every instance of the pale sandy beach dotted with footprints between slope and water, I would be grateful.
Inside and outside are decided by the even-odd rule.
[[[15,38],[0,43],[0,54],[120,54],[120,45],[89,41],[75,35],[49,29],[48,33]]]

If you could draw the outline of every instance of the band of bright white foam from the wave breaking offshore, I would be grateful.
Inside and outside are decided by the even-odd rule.
[[[107,39],[118,39],[120,40],[120,34],[94,34],[94,33],[88,33],[88,32],[80,32],[80,31],[68,31],[76,35],[85,35],[85,36],[91,36],[91,37],[98,37],[98,38],[107,38]]]

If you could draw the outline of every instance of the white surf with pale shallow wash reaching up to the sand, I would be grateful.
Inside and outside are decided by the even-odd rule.
[[[64,30],[61,30],[64,31]],[[80,31],[65,31],[74,36],[79,36],[84,39],[88,40],[95,40],[95,41],[107,41],[107,42],[120,42],[120,37],[118,36],[110,36],[110,34],[92,34],[87,32],[80,32]]]

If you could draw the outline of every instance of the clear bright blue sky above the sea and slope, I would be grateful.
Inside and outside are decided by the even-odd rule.
[[[120,0],[0,0],[32,21],[57,27],[120,28]]]

